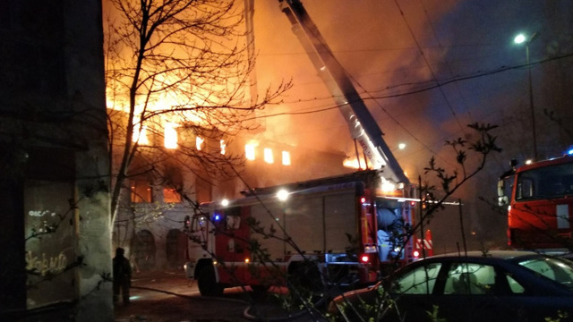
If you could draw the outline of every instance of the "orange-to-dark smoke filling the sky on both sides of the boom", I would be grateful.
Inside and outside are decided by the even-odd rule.
[[[495,182],[507,170],[507,160],[532,155],[526,51],[513,44],[513,38],[517,32],[541,31],[543,36],[529,47],[534,63],[555,53],[573,53],[573,38],[566,34],[573,23],[573,3],[305,0],[304,6],[355,82],[389,147],[406,143],[404,150],[393,150],[413,182],[423,176],[432,156],[444,167],[455,167],[444,143],[471,140],[467,124],[500,125],[494,134],[504,152],[493,156],[456,197],[464,200],[467,232],[475,233],[475,243],[502,240],[506,219],[492,215],[480,197],[495,199]],[[352,156],[346,123],[336,108],[328,109],[334,102],[277,2],[256,3],[255,32],[260,86],[281,79],[295,84],[284,104],[267,110],[286,114],[267,118],[265,135]],[[567,89],[573,78],[558,72],[570,70],[571,64],[569,57],[531,67],[535,117],[543,124],[538,140],[545,157],[560,150],[563,143],[552,138],[562,142],[566,131],[548,122],[543,108],[555,111],[563,122],[573,114],[563,108],[570,106]],[[313,110],[321,112],[308,113]],[[458,211],[449,212],[440,219],[442,228],[458,225]],[[445,222],[449,224],[442,225]]]

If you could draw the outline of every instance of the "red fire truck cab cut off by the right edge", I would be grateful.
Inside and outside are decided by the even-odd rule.
[[[508,207],[508,243],[548,253],[573,250],[573,149],[512,168],[500,176],[500,206]]]

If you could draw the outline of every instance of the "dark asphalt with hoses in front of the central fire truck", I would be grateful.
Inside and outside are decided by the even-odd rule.
[[[249,288],[226,289],[216,298],[203,297],[197,284],[183,274],[134,276],[130,295],[129,305],[121,301],[115,305],[116,322],[324,321],[305,311],[289,313],[281,308],[277,297],[253,297]]]

